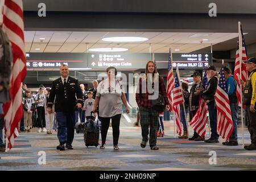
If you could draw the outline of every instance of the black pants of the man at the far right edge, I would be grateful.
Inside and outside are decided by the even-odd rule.
[[[256,113],[250,111],[250,105],[245,106],[245,112],[249,117],[247,128],[250,133],[251,143],[256,144]]]

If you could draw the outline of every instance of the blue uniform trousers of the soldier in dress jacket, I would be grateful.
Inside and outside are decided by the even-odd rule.
[[[75,134],[75,118],[73,113],[56,112],[58,123],[57,137],[60,144],[72,144]]]

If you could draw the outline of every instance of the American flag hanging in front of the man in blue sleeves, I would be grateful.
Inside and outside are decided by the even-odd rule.
[[[217,107],[217,133],[228,140],[233,131],[233,122],[229,106],[229,96],[226,89],[226,78],[224,75],[224,63],[222,63],[220,80],[214,96]]]

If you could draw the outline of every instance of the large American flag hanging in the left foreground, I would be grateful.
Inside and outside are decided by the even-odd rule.
[[[11,73],[11,101],[3,105],[5,115],[5,135],[9,148],[14,146],[16,127],[23,117],[22,81],[26,76],[26,56],[24,44],[23,5],[21,0],[6,0],[3,6],[3,30],[11,42],[13,65]]]

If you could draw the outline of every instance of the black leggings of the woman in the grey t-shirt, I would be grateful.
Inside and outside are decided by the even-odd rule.
[[[101,141],[102,141],[102,144],[105,144],[105,142],[106,142],[106,135],[108,134],[110,119],[112,119],[113,144],[114,144],[114,146],[117,146],[118,139],[119,139],[119,133],[120,133],[119,126],[120,126],[121,114],[114,115],[113,117],[110,117],[110,118],[100,117],[100,119],[101,119]]]

